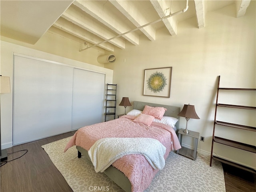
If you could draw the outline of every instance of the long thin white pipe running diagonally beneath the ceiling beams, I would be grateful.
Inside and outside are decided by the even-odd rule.
[[[177,11],[177,12],[175,12],[175,13],[171,13],[171,12],[170,12],[169,15],[164,16],[164,17],[162,17],[162,18],[160,18],[160,19],[158,19],[158,20],[155,20],[155,21],[152,21],[152,22],[150,22],[150,23],[144,24],[144,25],[142,25],[142,26],[140,26],[140,27],[138,27],[138,28],[135,28],[135,29],[132,29],[132,30],[127,31],[127,32],[125,32],[125,33],[122,33],[122,34],[120,34],[120,35],[114,36],[114,37],[112,37],[112,38],[110,38],[110,39],[104,40],[104,41],[99,42],[99,43],[97,43],[97,44],[94,44],[94,45],[91,45],[91,46],[88,46],[88,44],[87,44],[87,47],[84,48],[84,49],[79,50],[79,52],[84,51],[84,50],[87,50],[87,49],[92,48],[92,47],[95,47],[95,46],[98,46],[98,45],[100,45],[100,44],[102,44],[102,43],[108,42],[108,41],[110,41],[110,40],[112,40],[112,39],[121,37],[121,36],[126,35],[126,34],[128,34],[128,33],[134,32],[134,31],[139,30],[139,29],[141,29],[141,28],[144,28],[144,27],[146,27],[146,26],[148,26],[148,25],[155,24],[155,23],[160,22],[160,21],[162,21],[162,20],[164,20],[164,19],[170,18],[170,17],[172,17],[172,16],[174,16],[174,15],[176,15],[176,14],[184,13],[184,12],[186,12],[187,10],[188,10],[188,0],[186,0],[186,6],[185,6],[184,9],[182,9],[182,10],[179,10],[179,11]]]

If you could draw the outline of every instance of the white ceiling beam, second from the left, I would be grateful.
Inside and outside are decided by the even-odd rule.
[[[75,12],[74,10],[72,10],[71,7],[62,14],[62,17],[76,24],[80,28],[83,28],[84,30],[87,30],[93,33],[94,35],[102,38],[103,40],[109,39],[115,35],[114,33],[107,31],[104,27],[98,25],[97,22],[94,22],[90,18],[84,17],[83,15],[80,15],[78,12]],[[100,42],[101,41],[102,40],[100,40]],[[125,48],[125,41],[121,38],[116,38],[110,40],[109,42],[121,49]]]

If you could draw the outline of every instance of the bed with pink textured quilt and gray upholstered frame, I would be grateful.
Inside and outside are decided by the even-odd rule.
[[[165,108],[166,109],[166,111],[164,112],[165,117],[174,117],[177,120],[179,120],[178,113],[180,112],[180,108],[177,106],[168,106],[168,105],[162,105],[162,104],[134,101],[133,102],[133,111],[135,111],[135,110],[143,111],[145,106]],[[129,124],[129,126],[131,126],[128,128],[124,127],[124,129],[121,130],[121,132],[124,131],[124,133],[119,133],[119,131],[118,131],[118,134],[117,134],[115,129],[113,129],[113,133],[112,133],[113,137],[114,138],[122,137],[122,135],[124,135],[124,137],[129,137],[129,136],[126,136],[125,132],[130,131],[130,130],[132,133],[129,133],[129,134],[135,134],[135,136],[133,135],[132,137],[136,137],[136,138],[144,137],[143,133],[134,133],[134,132],[136,132],[136,130],[138,130],[138,129],[134,128],[135,127],[134,124],[136,123],[136,122],[134,122],[135,120],[136,120],[135,116],[126,115],[126,116],[122,116],[116,120],[110,121],[111,123],[114,122],[116,124],[121,124],[122,128],[124,126],[126,126],[126,124]],[[104,126],[107,127],[108,125],[110,125],[110,122],[103,122],[103,123],[100,123],[100,125],[102,127],[104,127]],[[142,125],[148,132],[151,133],[151,135],[149,136],[150,138],[159,140],[166,147],[164,159],[167,158],[167,156],[171,150],[177,150],[178,148],[180,148],[179,142],[177,144],[178,137],[176,135],[176,131],[179,129],[179,121],[176,122],[175,128],[174,127],[170,128],[170,126],[161,124],[157,120],[156,120],[156,122],[152,122],[152,124],[150,126],[147,126],[147,125],[144,125],[144,124],[141,124],[138,122],[136,124],[140,124],[140,126]],[[158,129],[158,127],[159,127],[159,129]],[[91,127],[86,126],[85,129],[87,129],[87,130],[83,130],[83,128],[81,128],[81,130],[78,130],[79,132],[77,131],[75,133],[75,135],[72,137],[70,142],[67,144],[65,151],[70,146],[76,145],[76,148],[78,150],[78,158],[80,158],[81,155],[83,154],[86,158],[91,160],[92,156],[90,156],[90,150],[94,146],[94,145],[92,145],[92,143],[96,144],[96,141],[98,142],[101,139],[94,138],[94,136],[96,135],[96,133],[92,132],[92,130],[94,129],[94,125],[92,125]],[[107,129],[108,128],[106,128],[106,135],[101,136],[101,137],[103,137],[102,139],[104,139],[104,137],[106,137],[106,138],[111,137],[107,133],[108,132]],[[90,133],[87,133],[88,130]],[[83,132],[85,132],[85,133],[83,133]],[[105,130],[101,131],[101,132],[105,132]],[[166,141],[166,138],[164,138],[162,140],[162,138],[160,138],[160,135],[162,134],[162,132],[167,135],[170,134],[172,141]],[[83,141],[78,141],[79,138],[82,137],[82,134],[83,134],[83,136],[86,135],[88,138],[86,138],[86,139],[83,138]],[[138,134],[138,135],[136,135],[136,134]],[[84,142],[89,142],[88,140],[92,140],[92,141],[90,141],[91,144],[87,144],[87,145],[89,145],[89,147],[86,146],[86,144],[84,144]],[[169,140],[169,138],[168,138],[168,140]],[[174,144],[176,146],[174,146]],[[89,154],[88,154],[88,151],[89,151]],[[104,174],[106,174],[111,180],[113,180],[116,184],[118,184],[118,186],[120,186],[126,192],[144,191],[150,185],[150,182],[152,181],[154,175],[158,172],[158,170],[153,169],[152,166],[150,166],[150,164],[146,164],[145,163],[146,160],[144,160],[145,158],[143,158],[141,156],[142,155],[140,155],[140,154],[127,154],[127,155],[121,157],[120,159],[116,160],[112,165],[110,165],[108,168],[104,169],[104,171],[102,171],[102,172],[104,172]],[[137,158],[141,158],[141,159],[137,160]],[[138,169],[136,170],[137,165],[134,166],[133,164],[130,167],[129,161],[131,159],[132,160],[136,159],[136,161],[142,161],[143,162],[142,163],[143,170],[142,171],[138,171]],[[122,164],[122,165],[120,165],[120,164]],[[95,169],[96,169],[96,167],[95,167]],[[132,170],[131,171],[132,176],[130,175],[130,173],[128,173],[127,169]],[[149,173],[144,174],[145,170],[147,170]],[[137,173],[136,171],[140,172],[140,173]],[[139,178],[135,178],[135,180],[137,179],[139,181],[137,181],[137,180],[135,182],[133,181],[134,175],[138,175]],[[138,182],[142,182],[143,183],[142,186],[140,186],[140,184],[138,184]]]

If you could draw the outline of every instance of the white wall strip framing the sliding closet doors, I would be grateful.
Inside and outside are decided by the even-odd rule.
[[[51,46],[51,44],[49,45]],[[3,76],[10,76],[11,93],[1,94],[1,143],[2,148],[12,146],[12,79],[13,79],[13,53],[24,54],[36,58],[42,58],[54,62],[59,62],[69,66],[77,66],[82,69],[89,69],[106,73],[106,83],[112,83],[113,71],[107,68],[91,65],[88,63],[64,58],[54,54],[38,51],[32,48],[12,44],[1,41],[1,66],[0,72]],[[97,58],[96,54],[92,54],[91,58]],[[102,114],[103,116],[103,114]],[[103,118],[102,118],[103,119]],[[29,134],[29,133],[28,133]]]

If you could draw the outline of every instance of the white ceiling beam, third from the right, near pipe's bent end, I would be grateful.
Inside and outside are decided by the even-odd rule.
[[[158,13],[158,15],[160,16],[160,18],[162,18],[170,13],[170,11],[169,12],[166,11],[166,9],[170,8],[170,7],[168,7],[166,5],[165,1],[150,0],[150,2],[153,5],[153,7],[155,8],[155,10]],[[163,23],[171,35],[177,34],[177,22],[175,22],[173,18],[170,17],[168,19],[165,19],[165,20],[163,20]]]

